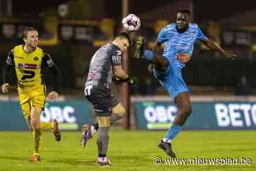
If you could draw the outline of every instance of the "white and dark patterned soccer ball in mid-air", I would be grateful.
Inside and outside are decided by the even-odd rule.
[[[122,23],[127,31],[137,31],[140,28],[140,18],[134,14],[124,17]]]

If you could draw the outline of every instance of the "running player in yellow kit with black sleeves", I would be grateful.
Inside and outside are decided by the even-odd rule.
[[[59,126],[56,119],[53,122],[40,122],[40,115],[44,109],[46,88],[42,77],[42,67],[46,66],[56,77],[53,91],[48,94],[49,99],[56,99],[59,87],[59,69],[54,64],[48,53],[37,47],[39,37],[36,28],[26,27],[23,31],[24,45],[15,46],[7,57],[2,76],[3,85],[1,91],[10,91],[10,84],[7,81],[8,72],[12,67],[18,82],[18,96],[20,107],[23,110],[24,118],[34,137],[34,154],[31,161],[40,161],[39,149],[41,146],[42,129],[52,129],[56,141],[61,140]]]

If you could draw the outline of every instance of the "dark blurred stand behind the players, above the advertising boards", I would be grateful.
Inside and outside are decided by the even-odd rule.
[[[61,93],[83,96],[83,84],[89,71],[91,56],[97,48],[110,42],[118,31],[121,31],[121,1],[113,1],[112,3],[116,3],[114,7],[112,3],[104,0],[54,3],[45,1],[44,4],[39,1],[37,5],[41,6],[40,9],[22,6],[23,2],[15,0],[0,0],[0,3],[1,68],[9,50],[23,43],[21,39],[23,28],[35,26],[39,30],[39,46],[50,53],[61,70]],[[135,34],[146,37],[148,49],[153,47],[161,28],[175,22],[176,10],[187,8],[194,9],[192,20],[200,26],[207,37],[238,55],[236,60],[230,60],[223,58],[219,53],[209,51],[200,43],[195,45],[192,60],[183,71],[184,80],[192,94],[213,94],[213,92],[214,94],[256,94],[256,22],[252,20],[256,6],[247,7],[249,5],[234,2],[234,10],[239,9],[236,7],[239,5],[241,10],[230,13],[226,9],[219,9],[219,13],[223,12],[222,15],[216,10],[216,15],[210,15],[208,12],[213,9],[208,9],[207,12],[203,9],[203,3],[206,6],[207,3],[199,0],[154,3],[148,2],[142,7],[141,4],[136,5],[135,1],[129,1],[129,13],[135,13],[141,20],[140,30]],[[221,4],[220,1],[216,3]],[[223,3],[222,8],[225,8],[225,2]],[[150,4],[151,8],[149,8]],[[243,5],[247,8],[242,9]],[[111,10],[116,11],[111,13]],[[133,53],[134,47],[131,47],[129,74],[138,77],[140,81],[138,85],[129,88],[129,94],[165,94],[147,72],[146,61],[135,61],[132,58]],[[47,71],[45,75],[46,83],[50,86],[52,78]],[[10,80],[15,85],[15,78],[11,75]],[[113,86],[114,90],[118,90],[120,84],[114,83]]]

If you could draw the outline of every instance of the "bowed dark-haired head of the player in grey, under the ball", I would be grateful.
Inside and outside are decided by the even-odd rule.
[[[132,37],[126,32],[121,32],[113,40],[113,44],[119,47],[121,51],[126,51],[129,45],[132,45]]]

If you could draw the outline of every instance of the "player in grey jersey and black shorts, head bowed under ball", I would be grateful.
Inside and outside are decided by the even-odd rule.
[[[124,106],[111,94],[112,77],[114,76],[120,82],[128,83],[129,86],[135,83],[134,79],[124,72],[121,65],[122,54],[131,44],[130,35],[122,32],[116,36],[113,42],[100,47],[91,58],[84,93],[86,99],[94,105],[97,123],[83,126],[81,146],[84,148],[93,134],[98,133],[97,163],[99,166],[111,165],[110,160],[106,157],[110,124],[123,118],[126,113]]]

